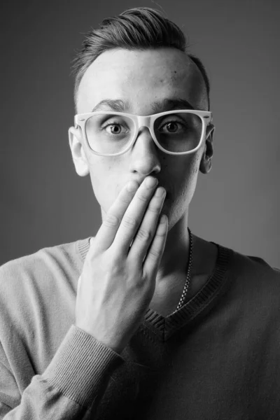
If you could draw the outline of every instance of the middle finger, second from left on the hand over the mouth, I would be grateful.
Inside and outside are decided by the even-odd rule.
[[[153,181],[153,183],[151,181]],[[157,180],[151,176],[148,176],[148,178],[146,178],[145,181],[141,183],[141,186],[137,190],[137,193],[135,194],[130,205],[127,207],[127,211],[123,216],[123,220],[120,223],[120,227],[118,228],[118,232],[116,233],[116,238],[113,243],[113,246],[116,246],[118,252],[122,253],[123,255],[127,255],[130,244],[132,243],[132,240],[134,239],[137,230],[142,223],[145,212],[147,211],[149,214],[156,214],[156,220],[158,220],[160,211],[154,211],[151,207],[147,209],[151,197],[153,196],[155,185],[158,183],[158,181],[156,183],[155,181]],[[155,207],[155,203],[153,204],[153,207]],[[155,218],[153,218],[153,221],[155,221]],[[156,223],[154,223],[153,228],[149,227],[149,235],[151,234],[152,230],[154,233],[155,225]],[[146,235],[144,230],[141,232],[143,232],[143,235]],[[146,244],[146,250],[148,249],[148,244],[150,244],[152,237],[153,236],[151,235],[151,237],[148,238],[148,241],[144,241]]]

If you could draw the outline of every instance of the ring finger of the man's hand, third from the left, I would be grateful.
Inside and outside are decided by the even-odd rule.
[[[148,208],[146,209],[146,213],[139,230],[134,237],[134,241],[129,252],[129,259],[134,261],[139,260],[141,263],[143,262],[148,251],[148,246],[150,246],[155,235],[160,211],[162,210],[163,203],[165,202],[165,196],[165,188],[157,188],[153,198],[148,204]]]

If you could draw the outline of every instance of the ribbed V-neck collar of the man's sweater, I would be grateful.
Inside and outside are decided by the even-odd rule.
[[[232,250],[215,242],[211,243],[218,246],[218,256],[214,272],[209,276],[207,283],[179,310],[166,317],[148,308],[141,325],[142,330],[148,328],[160,341],[167,341],[174,332],[188,323],[192,323],[197,316],[206,314],[223,296],[230,283],[228,267]],[[84,260],[90,247],[90,238],[78,241],[77,245],[80,257]]]

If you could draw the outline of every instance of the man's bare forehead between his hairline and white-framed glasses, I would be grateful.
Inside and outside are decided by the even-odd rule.
[[[165,99],[185,99],[194,109],[207,109],[200,70],[175,48],[103,52],[80,81],[77,111],[90,112],[104,99],[121,99],[139,115],[152,113],[152,104]]]

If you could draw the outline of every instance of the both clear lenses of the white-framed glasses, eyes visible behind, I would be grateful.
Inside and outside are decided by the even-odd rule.
[[[104,155],[124,151],[134,138],[135,130],[134,120],[129,116],[98,113],[85,124],[90,148]],[[200,143],[202,120],[193,113],[166,114],[155,120],[153,130],[166,151],[192,151]]]

